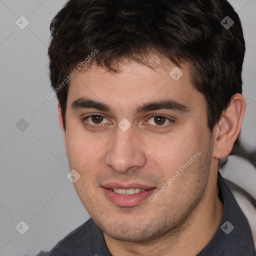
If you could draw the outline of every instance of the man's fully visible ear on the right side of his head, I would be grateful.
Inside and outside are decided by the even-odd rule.
[[[224,158],[231,152],[234,141],[241,130],[244,112],[244,97],[239,93],[233,94],[230,103],[214,126],[213,157]]]

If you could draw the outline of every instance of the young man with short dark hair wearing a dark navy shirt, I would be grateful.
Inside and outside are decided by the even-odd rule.
[[[50,29],[48,96],[91,218],[39,255],[255,255],[218,172],[245,111],[231,5],[69,0]]]

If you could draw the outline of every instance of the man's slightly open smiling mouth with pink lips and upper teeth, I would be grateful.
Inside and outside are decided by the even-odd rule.
[[[157,188],[143,184],[108,183],[101,186],[105,197],[117,206],[131,207],[146,201]],[[148,200],[149,201],[149,200]]]

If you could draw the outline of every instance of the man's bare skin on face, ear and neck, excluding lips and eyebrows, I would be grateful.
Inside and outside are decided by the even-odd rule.
[[[159,60],[154,70],[131,61],[119,65],[117,74],[92,65],[72,78],[65,130],[58,105],[69,167],[80,175],[74,183],[76,192],[103,231],[113,256],[195,255],[220,223],[218,159],[229,154],[239,134],[244,98],[233,95],[211,133],[206,103],[191,85],[188,64],[180,68],[183,74],[176,81],[169,75],[174,65],[167,60]],[[72,102],[81,97],[104,103],[113,112],[72,109]],[[188,111],[158,109],[134,114],[135,107],[164,99],[185,104]],[[91,114],[105,118],[96,123],[87,118],[82,123]],[[151,114],[173,121],[163,118],[164,124],[159,125]],[[123,118],[131,123],[127,131],[118,127]],[[92,129],[85,124],[102,126]],[[154,202],[146,198],[132,207],[117,206],[102,191],[102,184],[113,181],[161,189],[197,151],[200,156]]]

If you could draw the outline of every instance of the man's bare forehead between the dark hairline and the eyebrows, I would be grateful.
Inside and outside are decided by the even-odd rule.
[[[119,109],[167,98],[205,108],[202,94],[191,84],[189,66],[177,67],[170,61],[161,62],[154,69],[136,62],[123,63],[117,73],[91,65],[71,79],[67,105],[81,97]]]

